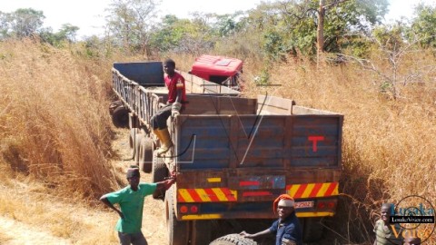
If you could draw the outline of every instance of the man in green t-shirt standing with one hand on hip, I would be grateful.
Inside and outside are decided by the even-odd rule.
[[[116,230],[122,245],[147,245],[141,231],[143,225],[144,198],[156,190],[168,190],[175,182],[175,174],[169,180],[157,183],[140,183],[139,168],[132,166],[127,170],[129,185],[119,191],[104,194],[100,201],[120,216]],[[117,203],[120,209],[114,207]]]

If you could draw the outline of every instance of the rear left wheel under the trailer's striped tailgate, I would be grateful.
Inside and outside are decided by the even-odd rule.
[[[169,245],[186,245],[188,244],[188,221],[179,221],[175,217],[173,206],[174,188],[166,191],[165,194],[165,211],[166,211],[166,228],[168,231]]]

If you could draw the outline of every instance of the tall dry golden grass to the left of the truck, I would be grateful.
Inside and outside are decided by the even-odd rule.
[[[87,200],[116,185],[108,71],[109,62],[31,40],[0,43],[0,180],[32,178]]]

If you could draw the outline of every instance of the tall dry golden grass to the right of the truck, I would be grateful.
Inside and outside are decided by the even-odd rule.
[[[373,62],[391,75],[391,65],[380,57],[374,54]],[[410,54],[401,62],[401,75],[436,68],[434,56],[426,53]],[[247,83],[250,96],[268,93],[344,114],[342,201],[332,225],[336,235],[347,242],[373,240],[372,223],[381,202],[417,194],[436,206],[436,69],[415,83],[400,83],[401,96],[393,101],[381,92],[381,78],[357,64],[317,69],[311,62],[292,60],[272,67],[270,82],[281,86]],[[253,81],[256,70],[245,66],[245,71],[245,80]],[[432,239],[428,241],[435,242],[434,235]]]

